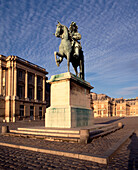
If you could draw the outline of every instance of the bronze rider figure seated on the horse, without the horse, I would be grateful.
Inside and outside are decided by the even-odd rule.
[[[78,33],[78,26],[76,25],[75,22],[71,22],[69,31],[72,37],[72,47],[74,48],[74,56],[76,58],[79,57],[79,51],[82,48],[81,43],[78,41],[81,39],[81,34]]]

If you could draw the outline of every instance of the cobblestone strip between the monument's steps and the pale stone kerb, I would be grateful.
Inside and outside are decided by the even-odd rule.
[[[94,139],[89,144],[54,142],[42,139],[32,139],[23,137],[0,136],[0,142],[27,145],[30,147],[39,147],[43,149],[54,149],[61,151],[77,152],[82,154],[103,155],[113,144],[125,136],[129,130],[118,130],[103,138]]]

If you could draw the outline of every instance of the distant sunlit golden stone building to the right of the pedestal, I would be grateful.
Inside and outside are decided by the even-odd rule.
[[[105,94],[91,93],[94,117],[138,116],[138,97],[135,99],[111,98]]]

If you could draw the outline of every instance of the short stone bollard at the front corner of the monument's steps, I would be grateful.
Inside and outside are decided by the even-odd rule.
[[[89,129],[81,129],[80,130],[80,143],[87,144],[89,141]]]

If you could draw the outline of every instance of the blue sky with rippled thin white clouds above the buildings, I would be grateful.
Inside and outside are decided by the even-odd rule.
[[[67,60],[54,59],[57,21],[78,25],[92,92],[138,96],[138,0],[0,0],[0,54],[44,67],[49,79],[67,72]]]

